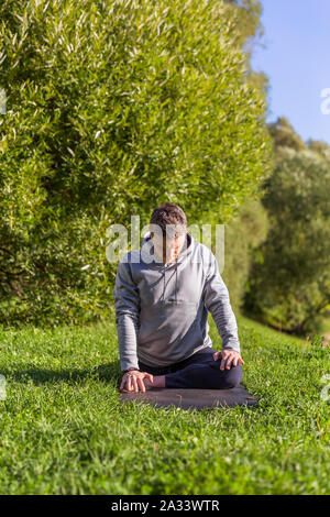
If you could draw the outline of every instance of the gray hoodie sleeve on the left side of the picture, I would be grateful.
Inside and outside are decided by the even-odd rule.
[[[139,369],[136,332],[140,312],[139,289],[129,263],[120,262],[113,288],[116,326],[121,370]]]

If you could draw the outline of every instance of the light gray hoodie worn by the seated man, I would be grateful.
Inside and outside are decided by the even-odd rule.
[[[139,360],[167,366],[212,346],[208,312],[222,349],[240,352],[235,316],[212,251],[187,232],[174,263],[157,261],[147,232],[141,250],[125,253],[118,265],[113,297],[121,370],[138,369]]]

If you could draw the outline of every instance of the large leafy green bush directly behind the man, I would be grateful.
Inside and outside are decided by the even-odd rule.
[[[2,0],[1,321],[107,317],[111,223],[161,200],[224,222],[255,191],[270,144],[235,20],[210,0]]]

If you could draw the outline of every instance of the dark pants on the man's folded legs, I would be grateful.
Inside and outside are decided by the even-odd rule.
[[[169,366],[148,366],[139,361],[141,372],[165,375],[166,388],[229,389],[240,384],[243,369],[240,364],[220,370],[221,361],[213,360],[211,346]]]

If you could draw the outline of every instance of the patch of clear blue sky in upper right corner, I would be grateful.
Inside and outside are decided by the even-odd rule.
[[[266,47],[254,46],[252,67],[270,78],[267,121],[285,116],[302,140],[330,144],[330,114],[321,112],[321,91],[330,89],[330,0],[261,3]]]

